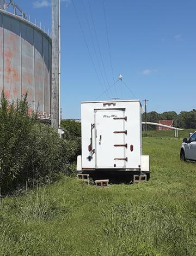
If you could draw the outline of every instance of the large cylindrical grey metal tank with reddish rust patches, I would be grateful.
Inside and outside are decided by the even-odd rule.
[[[0,90],[16,101],[28,93],[30,112],[51,113],[51,38],[0,8]]]

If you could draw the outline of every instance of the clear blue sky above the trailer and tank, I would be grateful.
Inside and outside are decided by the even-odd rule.
[[[30,14],[32,21],[36,18],[37,24],[41,21],[42,26],[51,29],[50,1],[16,2]],[[62,1],[63,118],[80,118],[80,102],[95,100],[119,74],[130,90],[118,82],[99,100],[147,98],[148,111],[156,112],[175,110],[179,113],[196,108],[196,1],[103,2]]]

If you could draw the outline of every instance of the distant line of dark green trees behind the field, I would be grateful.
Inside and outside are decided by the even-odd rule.
[[[148,122],[157,123],[158,120],[174,120],[174,126],[182,129],[196,129],[196,109],[189,112],[181,111],[177,114],[175,111],[157,113],[151,111],[146,113]],[[142,121],[145,121],[145,113],[142,114]],[[149,126],[149,130],[155,130],[156,126]]]

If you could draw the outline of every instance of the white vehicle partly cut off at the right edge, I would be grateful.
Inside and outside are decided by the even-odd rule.
[[[184,138],[181,144],[180,158],[183,161],[196,161],[196,131],[187,139]]]

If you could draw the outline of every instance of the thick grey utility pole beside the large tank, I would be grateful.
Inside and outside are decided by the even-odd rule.
[[[52,0],[52,99],[51,125],[60,129],[60,33],[59,33],[60,0]]]

